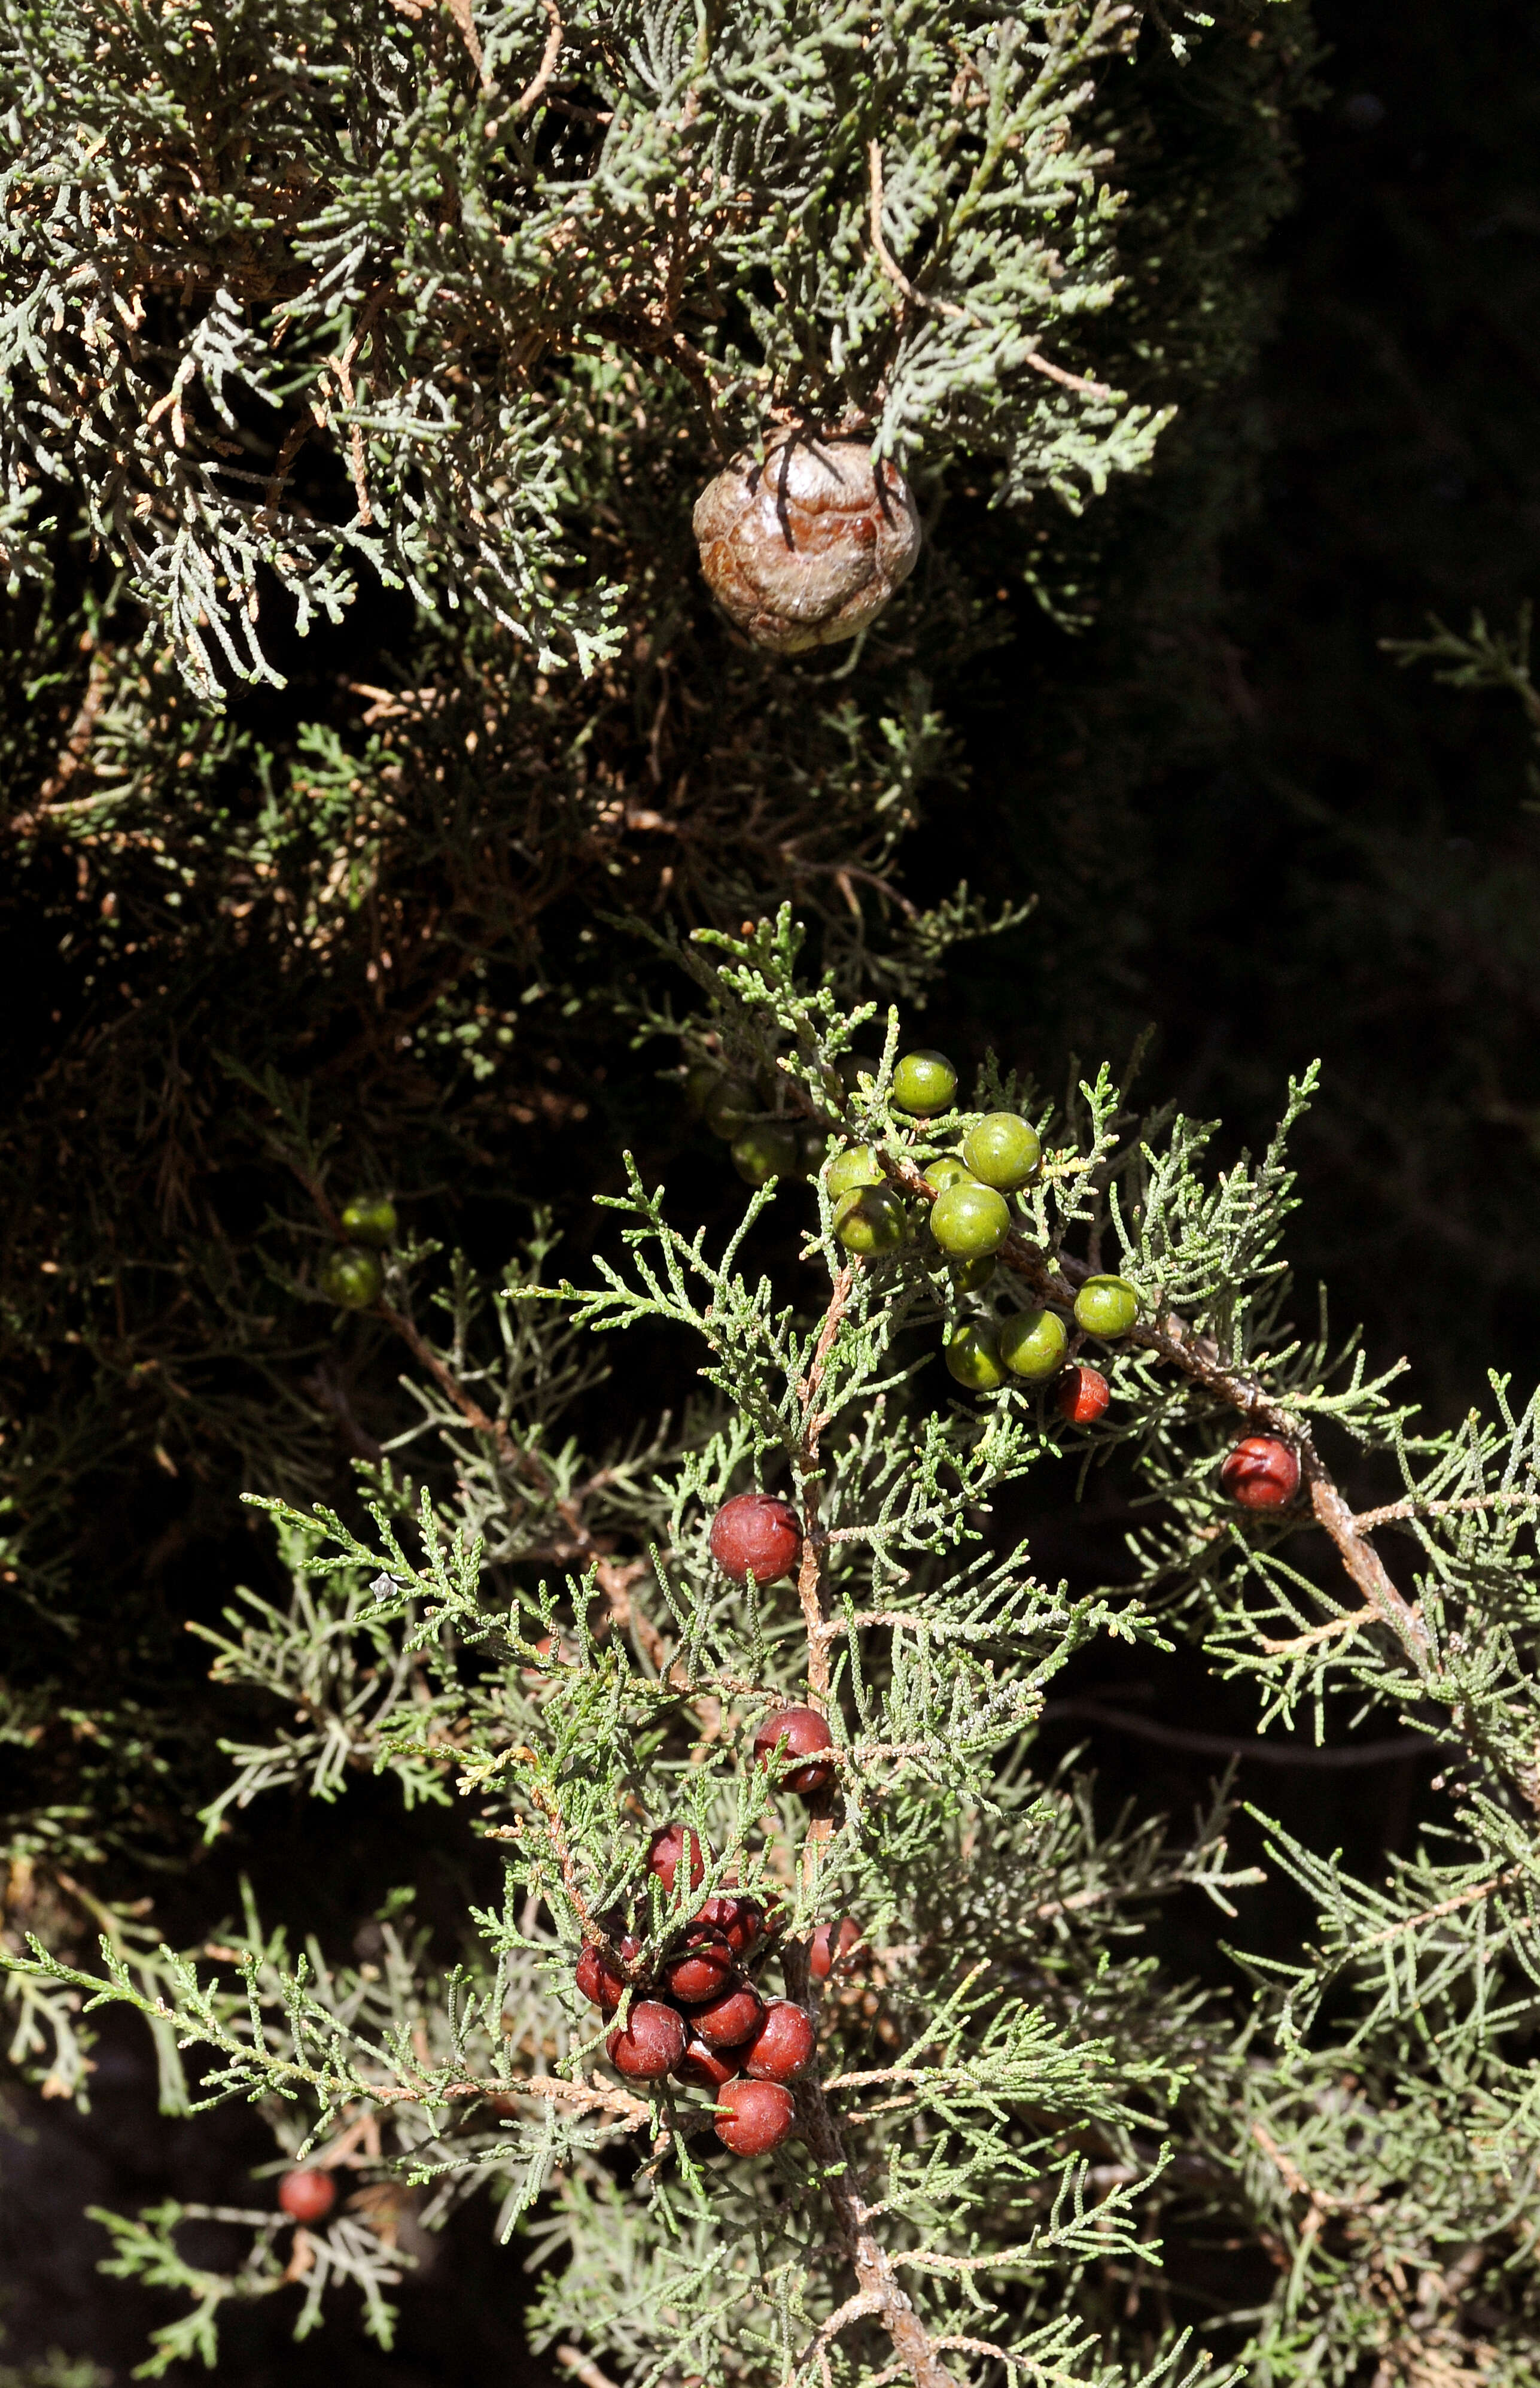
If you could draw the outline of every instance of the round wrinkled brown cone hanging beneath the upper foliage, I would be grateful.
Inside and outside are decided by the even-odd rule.
[[[735,456],[695,501],[700,568],[776,654],[855,638],[914,571],[919,516],[898,466],[860,437],[793,435]]]

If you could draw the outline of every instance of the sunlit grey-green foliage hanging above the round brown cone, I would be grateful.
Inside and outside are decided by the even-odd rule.
[[[277,678],[265,576],[301,630],[380,576],[542,671],[611,657],[595,368],[723,451],[867,425],[1008,504],[1079,504],[1165,420],[1084,370],[1120,289],[1113,0],[2,26],[5,552],[45,578],[81,490],[203,695]]]

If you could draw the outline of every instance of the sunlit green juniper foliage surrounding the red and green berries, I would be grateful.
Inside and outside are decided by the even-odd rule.
[[[1370,2359],[1387,2381],[1533,2381],[1540,1404],[1495,1383],[1485,1416],[1430,1433],[1399,1371],[1289,1328],[1308,1082],[1275,1144],[1222,1170],[1206,1130],[1136,1118],[1110,1070],[1053,1106],[991,1060],[965,1108],[919,1122],[891,1103],[898,1010],[800,979],[797,950],[788,912],[700,934],[685,1051],[757,1072],[828,1158],[867,1144],[910,1204],[900,1249],[840,1249],[828,1161],[812,1189],[752,1192],[721,1247],[633,1173],[587,1287],[549,1285],[540,1242],[497,1287],[439,1280],[423,1426],[368,1471],[368,1516],[267,1502],[291,1605],[246,1595],[215,1636],[220,1679],[303,1724],[232,1750],[210,1829],[232,1801],[282,1781],[332,1798],[358,1770],[470,1801],[504,1889],[466,1915],[458,1963],[389,1915],[377,1961],[294,1958],[248,1913],[203,1953],[110,1920],[100,1970],[41,1941],[7,1968],[60,2080],[79,2082],[67,2001],[119,2001],[198,2051],[191,2104],[258,2099],[279,2164],[363,2175],[339,2223],[296,2238],[303,2261],[265,2211],[234,2273],[179,2254],[189,2211],[112,2221],[115,2264],[189,2300],[150,2369],[212,2359],[220,2307],[296,2269],[301,2326],[353,2278],[389,2338],[392,2199],[415,2185],[430,2223],[487,2192],[540,2273],[535,2340],[626,2381],[1187,2378],[1211,2357],[1208,2376],[1280,2383]],[[879,1039],[874,1067],[838,1070]],[[996,1278],[960,1294],[922,1165],[1003,1103],[1041,1125],[1046,1163]],[[793,1290],[757,1256],[786,1201]],[[950,1321],[1070,1309],[1108,1261],[1139,1318],[1096,1349],[1098,1428],[1036,1387],[945,1387]],[[392,1263],[392,1309],[420,1266]],[[587,1457],[563,1409],[595,1337],[637,1328],[692,1340],[700,1404]],[[1237,1426],[1299,1450],[1296,1507],[1227,1500]],[[413,1471],[432,1435],[454,1488]],[[1349,1450],[1382,1459],[1368,1512],[1332,1473]],[[1127,1471],[1148,1516],[1125,1576],[1084,1593],[1036,1581],[1029,1543],[991,1526],[1012,1481],[1065,1464]],[[738,1590],[709,1559],[716,1504],[750,1481],[807,1521],[793,1583]],[[1270,1879],[1316,1913],[1292,1965],[1246,1958],[1258,1870],[1230,1855],[1225,1786],[1187,1836],[1108,1827],[1036,1755],[1077,1648],[1172,1633],[1256,1681],[1258,1731],[1304,1717],[1320,1743],[1382,1712],[1440,1750],[1440,1803],[1380,1882],[1263,1820]],[[824,1812],[750,1760],[788,1698],[836,1734]],[[671,1894],[642,1865],[666,1817],[709,1851]],[[786,1982],[821,2039],[800,2135],[752,2166],[716,2147],[709,2097],[606,2073],[571,1980],[623,1920],[642,1982],[733,1877],[781,1906]],[[1151,1944],[1158,1903],[1189,1891],[1234,1918],[1249,2001]],[[819,1996],[809,1934],[840,1915],[860,1946]]]

